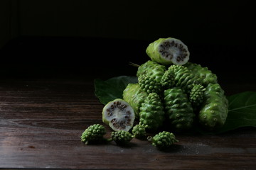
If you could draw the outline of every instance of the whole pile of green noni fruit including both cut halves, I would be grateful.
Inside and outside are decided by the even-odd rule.
[[[154,146],[167,147],[177,142],[171,132],[184,132],[200,124],[215,130],[228,116],[228,100],[208,67],[188,62],[188,47],[176,38],[160,38],[149,44],[151,60],[137,69],[138,82],[128,84],[123,98],[105,105],[102,120],[114,131],[132,131],[142,138],[147,132],[159,132],[151,139]],[[134,125],[134,120],[139,120]],[[154,139],[154,140],[153,140]],[[156,145],[157,143],[161,145]],[[164,145],[164,146],[162,146]]]

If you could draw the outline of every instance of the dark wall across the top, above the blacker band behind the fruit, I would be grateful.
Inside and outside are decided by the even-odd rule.
[[[2,0],[1,46],[21,35],[255,43],[253,1]]]

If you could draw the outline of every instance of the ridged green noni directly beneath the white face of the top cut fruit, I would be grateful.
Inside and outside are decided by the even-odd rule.
[[[200,84],[200,79],[187,67],[181,65],[171,65],[169,69],[174,72],[174,86],[181,87],[186,92],[191,91],[193,84]]]

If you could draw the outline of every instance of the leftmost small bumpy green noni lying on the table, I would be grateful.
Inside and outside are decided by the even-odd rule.
[[[90,143],[102,142],[105,134],[106,130],[103,125],[90,125],[84,132],[82,132],[81,141],[85,142],[86,145]]]

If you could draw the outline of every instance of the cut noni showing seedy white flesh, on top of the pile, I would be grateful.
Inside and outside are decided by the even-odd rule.
[[[186,64],[189,60],[188,47],[176,38],[159,38],[146,48],[146,54],[154,62],[164,65]]]

